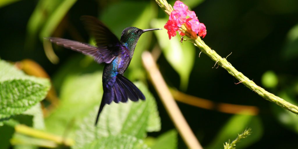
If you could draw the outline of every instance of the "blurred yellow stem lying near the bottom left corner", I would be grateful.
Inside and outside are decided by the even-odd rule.
[[[57,144],[64,144],[66,146],[71,146],[74,144],[74,141],[72,139],[64,139],[61,136],[49,134],[44,131],[36,130],[36,129],[30,128],[26,125],[22,125],[22,124],[15,125],[15,132],[24,134],[27,136],[32,136],[35,138],[51,140]]]

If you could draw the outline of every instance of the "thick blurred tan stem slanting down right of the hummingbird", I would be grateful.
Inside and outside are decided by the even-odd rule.
[[[159,97],[167,110],[167,113],[172,119],[187,147],[190,149],[203,149],[200,142],[195,137],[195,134],[193,134],[190,129],[190,126],[187,124],[187,121],[183,117],[177,103],[167,87],[167,84],[159,72],[156,63],[153,60],[152,55],[149,52],[143,52],[142,61],[145,69],[150,75],[150,80],[153,83],[154,88],[159,94]]]

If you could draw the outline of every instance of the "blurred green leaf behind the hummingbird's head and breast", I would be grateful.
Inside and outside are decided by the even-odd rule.
[[[125,10],[125,11],[123,11]],[[120,38],[122,30],[126,27],[138,27],[140,29],[150,28],[150,21],[157,16],[156,3],[143,1],[121,1],[110,5],[101,15],[101,20]],[[113,17],[117,15],[117,17]],[[121,23],[115,23],[121,22]],[[159,27],[160,28],[160,27]],[[141,54],[150,46],[152,32],[144,33],[134,50],[134,58],[129,65],[129,79],[145,78],[142,69]]]

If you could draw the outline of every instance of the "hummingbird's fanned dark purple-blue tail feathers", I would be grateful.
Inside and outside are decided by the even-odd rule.
[[[105,85],[104,85],[105,86]],[[138,101],[139,99],[145,100],[143,93],[124,76],[118,74],[114,82],[113,87],[105,88],[103,93],[103,99],[100,103],[100,108],[97,114],[95,126],[97,125],[99,115],[103,110],[105,104],[110,104],[112,101],[115,103],[126,103],[128,98],[132,101]]]

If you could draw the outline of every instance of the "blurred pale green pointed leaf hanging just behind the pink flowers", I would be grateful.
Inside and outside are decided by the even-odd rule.
[[[153,28],[160,28],[166,24],[167,19],[155,19],[151,22]],[[180,37],[177,35],[169,40],[167,30],[154,31],[162,52],[180,76],[180,88],[187,89],[190,72],[193,69],[195,61],[195,47],[191,42],[180,42]]]

